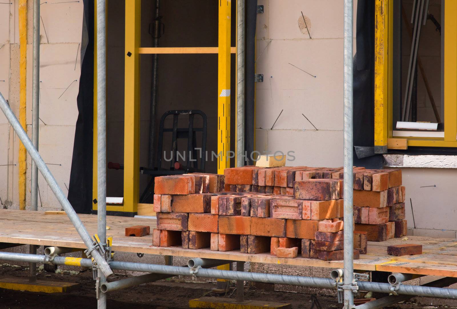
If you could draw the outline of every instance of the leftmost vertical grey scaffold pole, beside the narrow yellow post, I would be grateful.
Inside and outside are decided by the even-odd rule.
[[[39,104],[40,104],[40,2],[33,0],[33,64],[32,64],[32,143],[38,150]],[[32,184],[30,210],[38,210],[38,167],[32,160]],[[31,254],[37,254],[37,246],[30,245]],[[30,281],[35,281],[37,264],[30,263]]]

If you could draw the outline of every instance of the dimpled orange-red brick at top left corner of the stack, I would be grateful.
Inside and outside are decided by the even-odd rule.
[[[195,193],[195,177],[160,176],[154,178],[154,194]]]

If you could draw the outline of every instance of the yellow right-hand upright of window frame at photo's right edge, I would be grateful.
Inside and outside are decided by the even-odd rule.
[[[444,2],[444,140],[457,134],[457,1]]]

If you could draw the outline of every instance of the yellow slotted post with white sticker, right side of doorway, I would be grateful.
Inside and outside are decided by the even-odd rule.
[[[230,167],[230,22],[231,0],[218,0],[218,173]]]

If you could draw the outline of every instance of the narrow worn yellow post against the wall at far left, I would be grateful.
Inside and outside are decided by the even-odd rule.
[[[19,122],[27,132],[27,0],[19,1]],[[19,142],[19,209],[26,209],[27,151]]]

